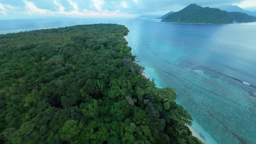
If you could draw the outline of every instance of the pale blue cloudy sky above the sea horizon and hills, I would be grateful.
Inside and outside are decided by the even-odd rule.
[[[32,17],[135,17],[163,15],[196,3],[200,6],[237,5],[256,11],[256,0],[0,0],[0,19]]]

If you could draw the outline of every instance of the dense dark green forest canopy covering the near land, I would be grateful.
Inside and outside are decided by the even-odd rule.
[[[198,144],[117,24],[0,35],[0,143]]]

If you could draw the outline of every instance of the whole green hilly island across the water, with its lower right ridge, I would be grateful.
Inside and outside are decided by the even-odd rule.
[[[162,22],[232,24],[234,22],[256,22],[256,17],[242,12],[227,12],[218,8],[190,4],[186,8],[168,14]]]

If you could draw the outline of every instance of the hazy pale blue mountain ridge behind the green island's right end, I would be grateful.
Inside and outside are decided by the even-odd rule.
[[[239,6],[234,6],[234,5],[224,5],[224,6],[218,6],[215,8],[219,8],[220,10],[226,10],[227,12],[242,12],[250,16],[256,16],[256,11],[244,10]]]

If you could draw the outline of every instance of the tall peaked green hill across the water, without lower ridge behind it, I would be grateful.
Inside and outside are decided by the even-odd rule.
[[[231,24],[233,19],[226,11],[190,4],[186,8],[167,16],[162,22]]]

